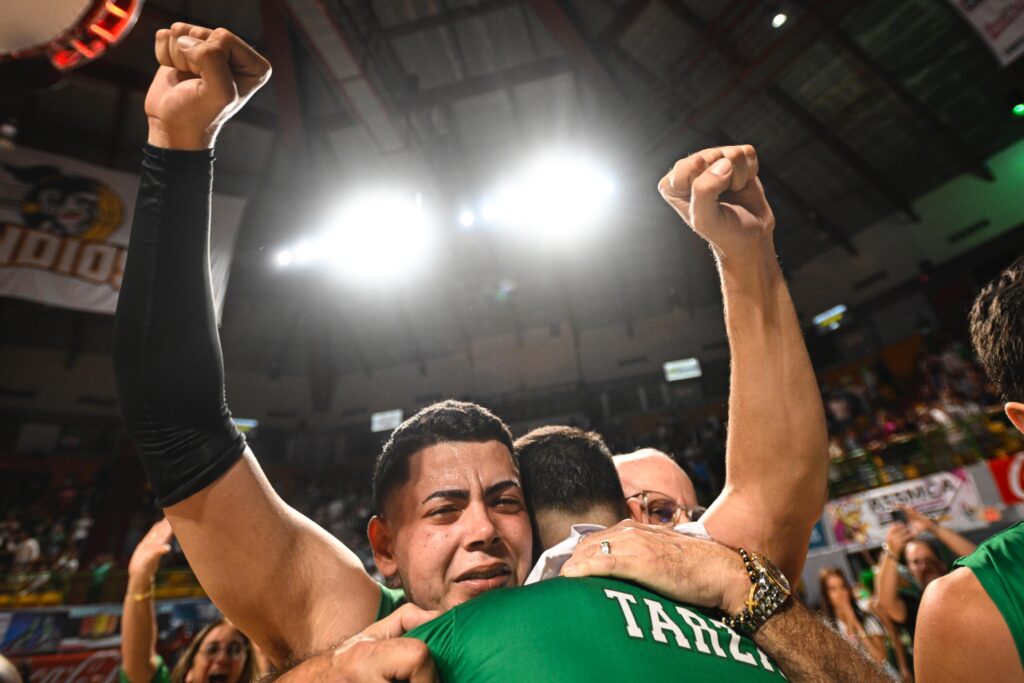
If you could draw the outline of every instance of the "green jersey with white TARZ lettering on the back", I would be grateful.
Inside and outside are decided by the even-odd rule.
[[[706,610],[603,578],[490,591],[408,636],[427,644],[446,683],[784,678]]]

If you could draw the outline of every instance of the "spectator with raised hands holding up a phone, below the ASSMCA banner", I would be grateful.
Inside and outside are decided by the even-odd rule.
[[[932,544],[921,537],[931,533],[956,556],[970,555],[976,546],[909,506],[901,505],[897,509],[906,515],[906,523],[895,522],[886,531],[876,580],[876,607],[896,625],[906,629],[912,638],[922,592],[949,570]],[[904,586],[902,590],[900,561],[906,563],[913,580],[911,586]]]

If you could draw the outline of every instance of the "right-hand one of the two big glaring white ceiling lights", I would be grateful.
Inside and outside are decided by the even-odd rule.
[[[498,213],[531,239],[564,242],[594,227],[613,193],[611,178],[588,160],[552,155],[499,193]]]

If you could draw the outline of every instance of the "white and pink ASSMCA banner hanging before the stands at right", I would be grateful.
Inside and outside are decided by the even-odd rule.
[[[988,523],[978,486],[963,467],[829,501],[824,519],[838,545],[877,546],[885,541],[896,505],[912,507],[962,531]]]

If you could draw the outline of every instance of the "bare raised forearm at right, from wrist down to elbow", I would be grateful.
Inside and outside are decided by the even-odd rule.
[[[797,575],[826,496],[817,380],[770,240],[720,258],[731,355],[727,484],[753,501],[772,559]]]

